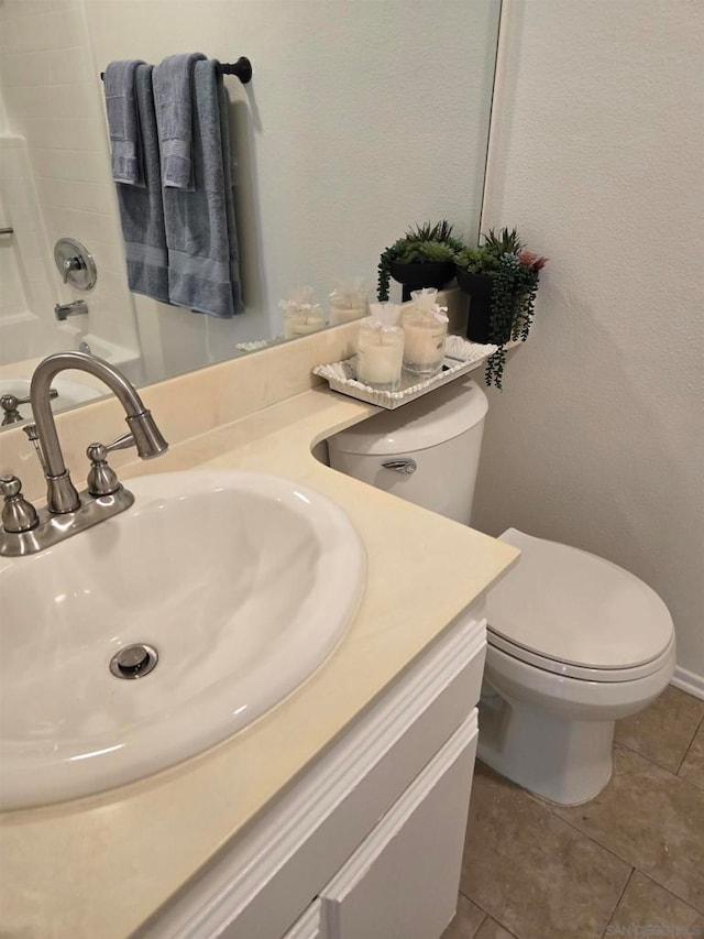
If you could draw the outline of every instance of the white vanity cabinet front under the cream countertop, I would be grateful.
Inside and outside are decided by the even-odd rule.
[[[460,616],[138,935],[440,939],[457,905],[485,643],[484,621]]]

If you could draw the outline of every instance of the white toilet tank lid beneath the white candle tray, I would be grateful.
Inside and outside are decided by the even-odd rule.
[[[343,454],[389,456],[444,444],[480,424],[486,395],[469,379],[450,382],[395,411],[336,434],[328,444]]]

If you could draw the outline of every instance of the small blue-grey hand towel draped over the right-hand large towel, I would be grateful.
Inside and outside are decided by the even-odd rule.
[[[162,185],[194,188],[193,77],[200,52],[168,55],[154,69],[154,101],[162,151]]]

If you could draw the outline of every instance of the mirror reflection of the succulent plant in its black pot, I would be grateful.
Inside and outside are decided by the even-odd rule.
[[[426,222],[409,228],[403,238],[382,252],[378,263],[380,303],[388,299],[393,277],[404,285],[403,299],[410,299],[411,291],[422,287],[444,286],[454,277],[454,258],[463,248],[452,237],[452,226],[442,219],[435,225]]]

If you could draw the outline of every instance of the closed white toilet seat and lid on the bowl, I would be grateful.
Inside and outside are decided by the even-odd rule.
[[[674,627],[658,594],[603,558],[509,528],[516,568],[486,598],[490,645],[546,672],[628,681],[658,672]]]

